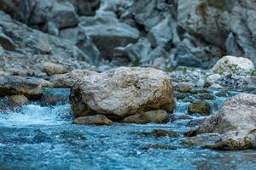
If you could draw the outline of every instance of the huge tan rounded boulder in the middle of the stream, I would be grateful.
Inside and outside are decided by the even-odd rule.
[[[104,114],[119,119],[145,111],[172,111],[172,84],[162,71],[119,67],[85,76],[71,92],[77,116]]]

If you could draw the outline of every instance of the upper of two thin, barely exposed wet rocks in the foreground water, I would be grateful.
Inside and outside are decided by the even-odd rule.
[[[170,131],[170,130],[163,130],[163,129],[155,129],[151,132],[143,132],[140,134],[145,135],[145,136],[153,136],[154,138],[160,138],[160,137],[177,138],[177,133]]]

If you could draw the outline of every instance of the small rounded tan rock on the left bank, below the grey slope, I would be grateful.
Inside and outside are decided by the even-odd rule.
[[[58,65],[51,62],[45,62],[43,64],[42,71],[46,72],[48,76],[67,73],[67,70],[63,65]]]

